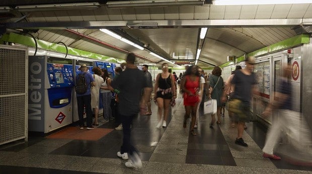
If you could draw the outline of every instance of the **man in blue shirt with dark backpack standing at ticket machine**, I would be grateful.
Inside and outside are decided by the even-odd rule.
[[[95,86],[95,80],[92,74],[88,72],[88,67],[83,64],[80,67],[81,74],[85,74],[86,83],[88,84],[88,90],[84,94],[77,94],[77,107],[79,116],[80,129],[84,129],[84,105],[87,113],[87,129],[94,129],[92,126],[92,107],[91,107],[91,86]],[[76,82],[79,80],[79,76],[76,76]]]

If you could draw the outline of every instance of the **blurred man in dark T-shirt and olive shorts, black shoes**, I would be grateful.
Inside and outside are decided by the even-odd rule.
[[[242,70],[237,70],[233,79],[228,82],[228,86],[234,85],[234,94],[232,96],[232,100],[238,101],[239,109],[242,111],[241,113],[236,114],[236,121],[238,121],[238,136],[235,140],[235,143],[238,145],[242,145],[248,147],[248,144],[243,140],[243,132],[245,127],[245,122],[249,122],[251,118],[250,112],[250,100],[252,98],[252,94],[256,94],[256,75],[253,73],[253,62],[254,57],[247,57],[246,59],[246,67]],[[222,102],[226,101],[226,94],[229,93],[230,88],[224,91],[222,96]]]

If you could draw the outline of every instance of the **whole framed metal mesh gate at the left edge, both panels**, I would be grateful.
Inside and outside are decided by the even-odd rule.
[[[0,46],[0,144],[27,141],[27,49]]]

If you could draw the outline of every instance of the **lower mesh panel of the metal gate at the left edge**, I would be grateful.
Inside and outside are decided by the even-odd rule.
[[[0,144],[25,136],[25,96],[0,97]]]

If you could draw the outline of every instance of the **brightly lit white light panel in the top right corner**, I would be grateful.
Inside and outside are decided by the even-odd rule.
[[[230,5],[270,5],[270,4],[310,4],[311,0],[214,0],[215,6]]]

